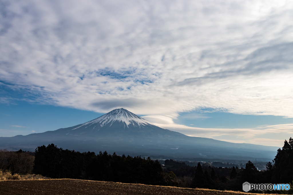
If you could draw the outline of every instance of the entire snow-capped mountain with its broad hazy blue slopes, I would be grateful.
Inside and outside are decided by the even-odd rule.
[[[234,159],[272,161],[278,147],[237,144],[202,137],[190,137],[158,127],[123,108],[73,127],[0,137],[0,148],[33,151],[54,143],[69,150],[107,151],[117,155],[156,156],[173,159]]]

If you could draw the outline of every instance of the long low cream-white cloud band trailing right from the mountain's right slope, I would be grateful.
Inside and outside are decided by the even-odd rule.
[[[159,127],[180,132],[192,137],[207,137],[234,143],[259,144],[267,146],[284,145],[284,139],[292,137],[293,124],[263,125],[256,128],[224,129],[224,128],[198,128],[176,124],[172,118],[160,115],[142,116],[142,118]],[[280,134],[280,136],[276,136]],[[285,137],[283,139],[283,137]],[[229,138],[229,139],[228,139]]]

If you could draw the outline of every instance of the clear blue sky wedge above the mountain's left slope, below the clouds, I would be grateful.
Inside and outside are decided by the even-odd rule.
[[[42,133],[78,125],[103,115],[93,111],[52,105],[1,104],[1,137]]]

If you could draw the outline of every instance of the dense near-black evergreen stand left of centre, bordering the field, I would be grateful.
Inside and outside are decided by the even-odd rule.
[[[35,174],[51,178],[87,179],[123,183],[167,185],[172,173],[164,174],[161,164],[151,158],[118,156],[39,146],[35,151]],[[175,176],[176,177],[176,176]]]

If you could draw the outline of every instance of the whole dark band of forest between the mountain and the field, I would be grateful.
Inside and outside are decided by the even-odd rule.
[[[54,144],[39,146],[35,152],[0,150],[0,169],[12,174],[39,174],[50,178],[140,183],[150,185],[242,191],[242,184],[290,184],[285,191],[249,191],[293,194],[293,139],[285,140],[275,159],[259,171],[251,161],[244,167],[215,167],[214,163],[186,165],[172,159],[160,164],[151,158],[122,156],[106,151],[79,152]],[[229,164],[231,165],[231,164]]]

